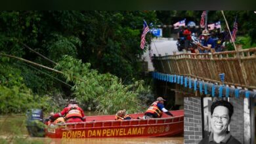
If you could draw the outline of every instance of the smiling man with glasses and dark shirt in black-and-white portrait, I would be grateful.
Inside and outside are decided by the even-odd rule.
[[[205,137],[200,144],[241,144],[228,132],[228,124],[231,122],[231,117],[234,112],[233,105],[228,101],[215,101],[211,105],[211,128],[212,132]]]

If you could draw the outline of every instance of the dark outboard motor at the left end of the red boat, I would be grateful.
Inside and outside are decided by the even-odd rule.
[[[41,109],[30,109],[26,113],[26,127],[32,137],[45,136],[45,124],[43,124],[43,111]]]

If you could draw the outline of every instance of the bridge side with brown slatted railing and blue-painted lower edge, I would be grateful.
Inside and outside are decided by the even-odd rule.
[[[211,96],[256,96],[256,48],[154,56],[154,79]]]

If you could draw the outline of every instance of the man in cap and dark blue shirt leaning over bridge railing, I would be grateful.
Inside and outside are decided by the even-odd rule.
[[[196,45],[198,45],[200,53],[215,52],[215,42],[211,37],[209,37],[209,31],[205,29],[202,31],[201,35],[203,35],[203,43],[196,43]]]

